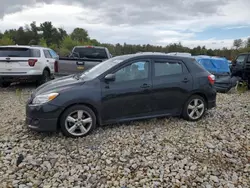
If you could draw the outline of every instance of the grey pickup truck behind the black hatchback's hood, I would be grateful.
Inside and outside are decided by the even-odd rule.
[[[56,75],[82,73],[111,58],[109,50],[101,46],[76,46],[68,57],[59,57]]]

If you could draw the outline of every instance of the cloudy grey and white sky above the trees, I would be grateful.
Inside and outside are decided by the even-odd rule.
[[[0,0],[0,31],[51,21],[103,43],[231,48],[250,37],[250,0]]]

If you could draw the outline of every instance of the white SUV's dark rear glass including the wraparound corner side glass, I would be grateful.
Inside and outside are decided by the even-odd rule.
[[[40,50],[29,48],[0,48],[0,57],[40,57]]]

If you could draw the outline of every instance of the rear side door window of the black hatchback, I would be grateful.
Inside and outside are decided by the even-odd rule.
[[[179,62],[156,61],[154,63],[155,76],[182,74],[182,64]]]

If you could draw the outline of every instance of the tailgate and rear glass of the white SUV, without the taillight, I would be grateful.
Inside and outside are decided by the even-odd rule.
[[[0,47],[0,74],[26,74],[29,59],[40,58],[39,50],[25,47]]]

